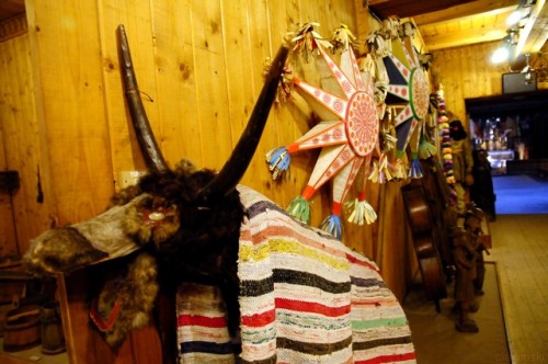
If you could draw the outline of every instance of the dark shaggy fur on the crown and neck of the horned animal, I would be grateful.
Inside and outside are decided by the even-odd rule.
[[[219,286],[227,305],[229,330],[235,334],[239,326],[238,241],[244,211],[236,190],[207,204],[196,200],[197,192],[214,177],[214,171],[195,171],[183,161],[174,171],[145,175],[136,187],[114,196],[113,203],[123,204],[148,193],[153,197],[147,200],[144,208],[176,206],[176,232],[164,241],[156,241],[160,289],[173,295],[182,282]]]

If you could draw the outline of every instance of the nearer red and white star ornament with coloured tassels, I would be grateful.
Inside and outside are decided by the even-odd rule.
[[[339,32],[339,35],[344,34],[347,29]],[[362,76],[354,52],[350,43],[346,44],[341,53],[340,66],[328,55],[326,47],[312,44],[321,57],[319,60],[331,72],[332,81],[323,83],[322,89],[295,77],[294,87],[320,122],[295,143],[266,155],[273,178],[279,178],[289,167],[292,153],[321,148],[307,186],[292,202],[288,212],[307,223],[309,200],[323,184],[332,181],[331,215],[321,227],[338,238],[342,236],[343,201],[358,172],[370,163],[374,149],[378,149],[379,133],[373,78],[370,75]]]

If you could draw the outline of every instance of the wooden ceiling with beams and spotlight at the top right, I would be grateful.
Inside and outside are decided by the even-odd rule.
[[[429,52],[502,41],[509,15],[518,8],[529,14],[520,22],[517,54],[548,52],[546,0],[369,0],[379,19],[412,18]]]

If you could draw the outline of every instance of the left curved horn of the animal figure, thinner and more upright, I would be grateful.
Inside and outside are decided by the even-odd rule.
[[[150,170],[155,172],[164,171],[168,169],[168,164],[163,159],[160,148],[158,148],[152,128],[148,122],[145,106],[140,100],[139,88],[137,87],[137,78],[135,77],[134,64],[132,61],[132,54],[129,53],[129,45],[127,43],[124,25],[118,25],[116,35],[118,39],[118,62],[124,83],[124,93],[126,95],[127,107],[129,109],[135,134],[142,151],[142,157]]]

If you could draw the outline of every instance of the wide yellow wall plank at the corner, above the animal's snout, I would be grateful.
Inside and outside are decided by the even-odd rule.
[[[28,1],[27,14],[58,217],[77,221],[103,211],[113,192],[96,4]]]

